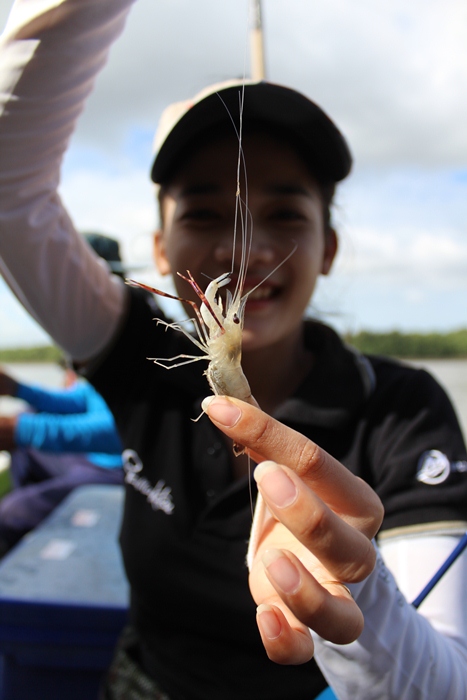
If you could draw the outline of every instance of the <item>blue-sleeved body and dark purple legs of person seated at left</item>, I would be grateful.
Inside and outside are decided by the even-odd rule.
[[[8,551],[74,488],[123,483],[122,447],[101,395],[67,369],[65,388],[24,384],[0,370],[0,395],[30,410],[0,416],[13,490],[0,501],[0,550]]]

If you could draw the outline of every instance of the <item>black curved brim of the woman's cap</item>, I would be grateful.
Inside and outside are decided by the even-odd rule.
[[[196,98],[195,98],[196,99]],[[273,127],[284,138],[293,139],[301,155],[322,179],[343,180],[352,167],[347,143],[331,119],[305,95],[268,82],[249,82],[208,93],[191,106],[174,124],[155,156],[151,179],[164,183],[175,164],[183,159],[203,133],[221,124],[238,128],[243,101],[243,123],[258,122]],[[233,129],[232,125],[232,129]],[[302,151],[303,149],[303,151]]]

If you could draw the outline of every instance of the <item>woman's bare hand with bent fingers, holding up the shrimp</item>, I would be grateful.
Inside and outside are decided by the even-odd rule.
[[[308,628],[347,644],[363,616],[345,584],[375,564],[371,539],[383,507],[364,481],[306,437],[238,399],[209,397],[212,422],[255,462],[267,505],[257,535],[250,589],[268,656],[299,664],[313,656]]]

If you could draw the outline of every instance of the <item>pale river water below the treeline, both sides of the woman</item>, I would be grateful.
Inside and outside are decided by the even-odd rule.
[[[467,360],[414,360],[410,364],[424,367],[443,385],[456,408],[459,421],[467,438]],[[14,363],[4,364],[6,371],[25,382],[35,382],[59,387],[63,370],[55,364]],[[0,397],[0,414],[15,412],[23,404],[15,399]]]

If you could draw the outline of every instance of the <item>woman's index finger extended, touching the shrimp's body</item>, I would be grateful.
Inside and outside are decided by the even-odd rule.
[[[378,496],[316,443],[239,399],[210,396],[203,401],[203,410],[220,430],[244,445],[255,461],[273,460],[289,467],[334,512],[347,521],[358,519],[360,526],[368,518],[366,534],[376,533],[382,519]]]

